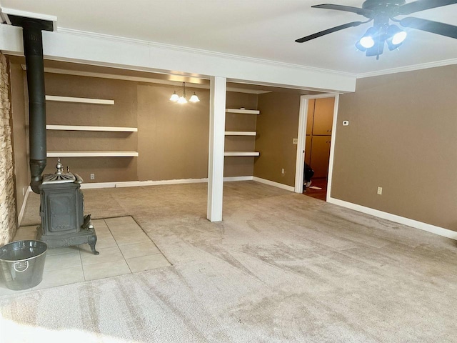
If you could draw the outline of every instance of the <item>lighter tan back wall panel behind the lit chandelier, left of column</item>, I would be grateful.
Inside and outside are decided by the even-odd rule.
[[[208,177],[209,90],[196,90],[200,102],[182,105],[169,101],[173,91],[171,86],[138,86],[141,181]]]

